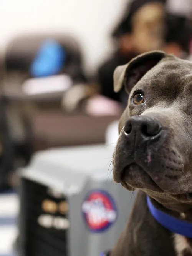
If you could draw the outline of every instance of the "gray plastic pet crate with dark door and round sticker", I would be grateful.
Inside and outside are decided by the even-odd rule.
[[[20,255],[99,256],[114,246],[134,196],[113,182],[112,153],[106,145],[36,153],[21,172]]]

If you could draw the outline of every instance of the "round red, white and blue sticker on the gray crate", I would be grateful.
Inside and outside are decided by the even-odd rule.
[[[117,218],[115,202],[104,190],[89,192],[82,204],[82,211],[87,227],[93,232],[108,229]]]

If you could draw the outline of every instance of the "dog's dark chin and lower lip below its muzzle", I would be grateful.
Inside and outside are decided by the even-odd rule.
[[[163,192],[147,172],[136,163],[132,163],[124,168],[121,179],[122,186],[130,191],[142,189]]]

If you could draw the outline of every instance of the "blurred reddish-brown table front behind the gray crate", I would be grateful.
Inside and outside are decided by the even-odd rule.
[[[39,111],[30,119],[34,150],[50,147],[104,143],[106,129],[119,116],[66,115]]]

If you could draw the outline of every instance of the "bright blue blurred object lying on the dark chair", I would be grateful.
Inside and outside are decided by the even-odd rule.
[[[56,40],[48,39],[40,47],[35,60],[31,63],[33,77],[58,74],[66,61],[66,52]]]

